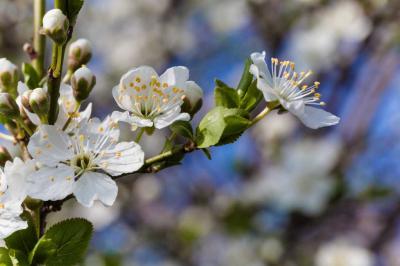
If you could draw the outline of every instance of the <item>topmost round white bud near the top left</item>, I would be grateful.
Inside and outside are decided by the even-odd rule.
[[[58,44],[67,40],[69,22],[60,9],[52,9],[43,17],[43,33]]]

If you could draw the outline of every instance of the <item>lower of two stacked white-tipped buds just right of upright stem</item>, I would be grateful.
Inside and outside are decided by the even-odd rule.
[[[96,77],[89,68],[82,66],[76,70],[71,77],[71,86],[76,101],[86,100],[95,84]]]

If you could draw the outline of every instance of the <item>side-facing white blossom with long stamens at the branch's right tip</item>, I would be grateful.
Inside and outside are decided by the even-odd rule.
[[[332,126],[339,118],[314,106],[323,106],[321,95],[316,92],[319,82],[301,85],[311,71],[297,73],[294,63],[271,59],[271,72],[265,62],[265,52],[251,55],[253,64],[250,72],[257,78],[257,87],[267,102],[279,101],[281,106],[297,116],[309,128]]]

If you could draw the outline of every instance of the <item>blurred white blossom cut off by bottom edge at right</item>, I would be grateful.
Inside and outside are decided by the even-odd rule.
[[[365,248],[337,239],[322,245],[315,256],[316,266],[372,266],[373,255]]]

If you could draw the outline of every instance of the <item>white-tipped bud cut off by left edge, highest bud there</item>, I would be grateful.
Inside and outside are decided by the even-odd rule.
[[[6,58],[0,59],[0,91],[16,95],[18,68]]]

